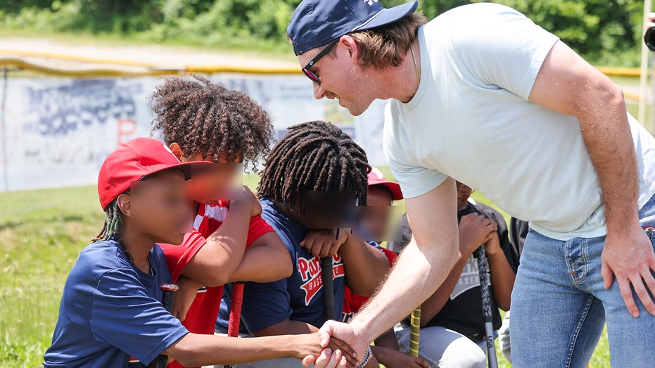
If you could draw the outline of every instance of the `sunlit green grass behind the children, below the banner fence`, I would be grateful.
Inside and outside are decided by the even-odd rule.
[[[257,180],[247,175],[243,182],[255,188]],[[473,198],[489,203],[481,193]],[[100,230],[103,212],[94,186],[0,193],[0,208],[0,368],[39,367],[65,278]],[[511,367],[500,353],[498,360]],[[609,367],[605,333],[590,367]]]

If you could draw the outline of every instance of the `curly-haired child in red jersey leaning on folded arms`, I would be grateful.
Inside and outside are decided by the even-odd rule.
[[[162,245],[172,279],[181,286],[174,313],[189,331],[214,334],[224,284],[276,281],[291,274],[286,247],[262,220],[259,203],[243,210],[227,201],[241,163],[256,170],[257,158],[269,151],[272,125],[246,94],[198,75],[167,78],[151,106],[154,129],[181,162],[217,164],[189,183],[193,231],[180,246]]]

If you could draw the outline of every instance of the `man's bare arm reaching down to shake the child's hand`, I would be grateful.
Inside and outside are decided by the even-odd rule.
[[[409,315],[431,296],[457,259],[457,201],[454,180],[407,198],[409,224],[414,231],[379,292],[350,324],[328,321],[319,331],[322,345],[335,336],[364,356],[376,336]]]

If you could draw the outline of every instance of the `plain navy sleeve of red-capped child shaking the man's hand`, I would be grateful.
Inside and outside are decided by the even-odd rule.
[[[146,365],[189,333],[159,300],[148,296],[136,273],[125,269],[103,274],[91,308],[91,331],[98,341]]]

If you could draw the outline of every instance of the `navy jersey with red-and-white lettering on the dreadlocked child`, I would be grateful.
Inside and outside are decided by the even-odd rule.
[[[247,331],[260,331],[286,319],[320,327],[326,320],[323,302],[321,259],[300,246],[307,229],[286,217],[272,201],[262,199],[262,217],[275,229],[291,255],[293,273],[279,281],[247,282],[243,288],[241,322]],[[335,315],[341,316],[345,293],[341,256],[332,259]],[[232,287],[225,286],[217,324],[227,327]]]

